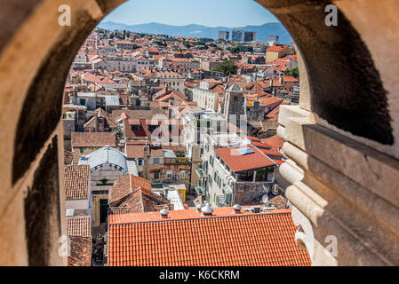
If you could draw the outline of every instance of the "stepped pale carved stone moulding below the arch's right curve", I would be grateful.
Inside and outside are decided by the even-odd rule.
[[[281,106],[280,167],[296,240],[313,265],[399,264],[399,162]]]

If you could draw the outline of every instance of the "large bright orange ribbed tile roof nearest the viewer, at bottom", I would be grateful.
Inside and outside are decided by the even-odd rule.
[[[196,209],[111,215],[110,266],[304,266],[306,250],[295,242],[291,209],[232,214],[215,208],[212,217]]]

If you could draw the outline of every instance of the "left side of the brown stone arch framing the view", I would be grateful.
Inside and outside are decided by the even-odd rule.
[[[122,2],[1,3],[0,75],[8,78],[0,82],[0,122],[4,125],[0,133],[2,265],[67,264],[66,257],[58,254],[58,237],[65,232],[63,171],[58,170],[63,165],[63,141],[54,140],[62,137],[62,91],[84,38]],[[72,7],[70,27],[58,25],[61,4]],[[40,203],[48,212],[35,209],[37,198],[49,202]]]

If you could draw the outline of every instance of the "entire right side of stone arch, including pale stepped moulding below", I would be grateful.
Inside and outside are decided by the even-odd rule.
[[[299,106],[281,106],[277,129],[290,158],[280,174],[301,227],[297,242],[314,265],[397,265],[397,54],[388,50],[399,43],[399,4],[259,3],[288,28],[301,59]],[[337,27],[322,24],[331,3]]]

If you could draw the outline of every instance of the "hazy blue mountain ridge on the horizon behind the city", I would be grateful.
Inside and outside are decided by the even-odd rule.
[[[233,29],[243,29],[246,31],[256,32],[256,38],[265,42],[267,36],[279,36],[281,43],[291,43],[292,38],[288,31],[281,23],[267,23],[261,26],[245,26],[237,28],[215,27],[210,28],[201,25],[187,25],[187,26],[171,26],[160,23],[148,23],[140,25],[125,25],[113,21],[100,22],[98,28],[105,28],[108,30],[129,30],[135,33],[154,34],[154,35],[168,35],[168,36],[190,36],[190,37],[209,37],[213,39],[218,38],[219,30],[227,30],[230,32]]]

